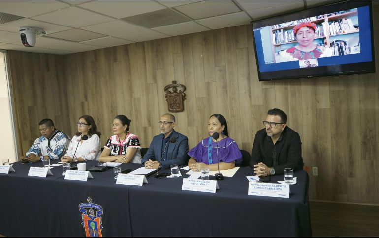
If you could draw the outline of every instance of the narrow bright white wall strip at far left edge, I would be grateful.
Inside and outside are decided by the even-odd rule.
[[[0,52],[0,164],[2,159],[17,161],[16,145],[12,129],[12,117],[9,105],[8,82],[6,79],[4,53]]]

